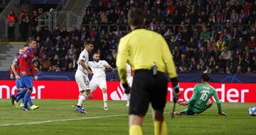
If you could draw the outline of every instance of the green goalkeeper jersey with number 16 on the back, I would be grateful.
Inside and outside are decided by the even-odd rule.
[[[187,104],[193,104],[194,107],[201,110],[203,109],[203,107],[206,106],[206,103],[208,102],[212,95],[217,103],[218,111],[221,112],[221,105],[217,92],[215,88],[208,85],[207,83],[196,84],[193,90],[193,95],[188,100]]]

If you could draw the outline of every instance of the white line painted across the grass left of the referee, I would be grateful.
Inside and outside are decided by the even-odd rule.
[[[28,123],[17,123],[17,124],[0,124],[0,127],[19,126],[19,125],[28,125],[28,124],[42,124],[42,123],[51,123],[51,122],[67,122],[67,121],[83,120],[83,119],[101,119],[101,118],[121,117],[121,116],[128,116],[128,115],[107,115],[107,116],[101,116],[101,117],[82,117],[82,118],[76,118],[76,119],[46,120],[46,121],[41,121],[41,122],[28,122]]]

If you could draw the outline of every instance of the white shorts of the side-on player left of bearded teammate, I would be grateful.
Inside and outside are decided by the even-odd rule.
[[[89,81],[88,76],[76,77],[75,81],[78,83],[79,91],[90,90],[90,81]]]

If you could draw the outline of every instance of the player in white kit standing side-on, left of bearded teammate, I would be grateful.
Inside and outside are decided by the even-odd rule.
[[[88,68],[89,61],[89,52],[92,51],[93,45],[92,42],[85,42],[85,49],[80,53],[77,64],[78,69],[75,72],[75,81],[78,83],[78,88],[80,91],[78,98],[78,105],[76,105],[75,110],[78,110],[80,113],[87,113],[83,107],[82,103],[85,98],[89,97],[90,94],[90,80],[88,78],[88,74],[93,76],[92,71]]]

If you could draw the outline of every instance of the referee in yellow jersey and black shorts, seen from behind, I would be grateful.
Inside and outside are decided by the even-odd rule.
[[[149,108],[153,107],[154,134],[167,135],[164,122],[168,71],[174,86],[174,101],[178,99],[178,81],[173,57],[166,41],[161,35],[144,29],[144,12],[132,8],[128,12],[128,25],[132,32],[122,37],[117,54],[117,69],[124,86],[124,93],[129,93],[127,84],[127,61],[134,71],[129,105],[129,135],[142,135],[142,121]]]

